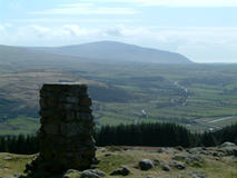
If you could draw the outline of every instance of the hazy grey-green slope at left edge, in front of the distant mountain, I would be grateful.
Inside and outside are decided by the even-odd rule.
[[[65,68],[71,63],[85,63],[87,60],[72,56],[48,53],[21,47],[0,44],[0,66],[2,70],[27,70],[27,69],[48,69]]]

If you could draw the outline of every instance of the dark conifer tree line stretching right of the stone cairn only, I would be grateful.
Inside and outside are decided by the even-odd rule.
[[[237,123],[220,130],[192,134],[175,122],[102,126],[95,135],[97,146],[215,147],[225,141],[237,145]]]

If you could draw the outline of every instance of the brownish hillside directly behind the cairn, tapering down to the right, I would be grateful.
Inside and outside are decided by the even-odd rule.
[[[88,83],[88,91],[97,109],[100,108],[98,101],[126,103],[137,98],[120,88],[57,69],[0,73],[0,135],[30,134],[39,129],[39,89],[45,82]]]

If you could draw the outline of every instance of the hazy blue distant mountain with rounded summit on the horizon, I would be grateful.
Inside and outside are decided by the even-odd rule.
[[[63,56],[109,61],[136,61],[155,63],[192,63],[176,52],[142,48],[115,41],[90,42],[66,47],[30,47],[28,49]]]

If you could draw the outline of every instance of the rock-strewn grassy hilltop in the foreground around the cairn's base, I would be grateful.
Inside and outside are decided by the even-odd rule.
[[[225,155],[218,148],[192,148],[190,150],[177,148],[158,148],[158,147],[100,147],[96,155],[100,162],[96,166],[102,171],[105,177],[131,177],[131,178],[227,178],[237,177],[236,157]],[[228,147],[227,147],[228,148]],[[198,152],[197,155],[194,151]],[[23,172],[26,164],[32,160],[37,155],[13,155],[0,154],[0,177],[42,177],[49,176],[43,169],[33,174]],[[140,161],[151,162],[148,170],[142,170]],[[122,166],[122,167],[120,167]],[[119,168],[120,167],[120,168]],[[129,172],[127,176],[110,176],[115,170],[125,168]],[[99,169],[99,170],[98,170]],[[126,171],[125,171],[126,172]],[[70,169],[68,174],[50,175],[51,177],[62,178],[82,178],[82,172]],[[18,176],[17,176],[18,175]],[[41,175],[41,176],[40,176]],[[12,177],[12,176],[11,176]],[[93,175],[93,177],[96,177]],[[97,176],[102,178],[103,176]]]

